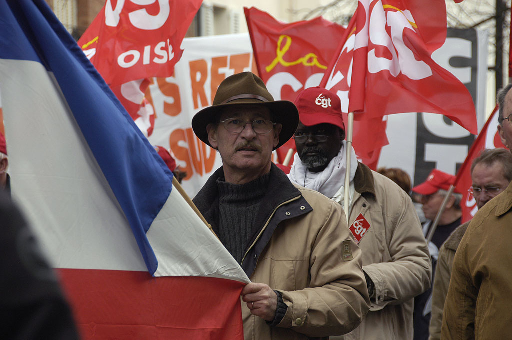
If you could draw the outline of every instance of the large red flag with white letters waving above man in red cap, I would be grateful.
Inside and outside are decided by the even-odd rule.
[[[360,0],[322,85],[355,120],[432,112],[476,134],[470,93],[432,59],[445,39],[444,0]]]

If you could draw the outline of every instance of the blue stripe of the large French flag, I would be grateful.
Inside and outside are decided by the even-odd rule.
[[[54,74],[153,274],[146,232],[172,190],[172,172],[43,0],[0,1],[0,58],[40,62]]]

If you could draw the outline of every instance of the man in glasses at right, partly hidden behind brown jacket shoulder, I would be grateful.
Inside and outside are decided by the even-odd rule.
[[[512,153],[505,149],[483,150],[473,160],[471,177],[473,186],[470,191],[475,197],[478,209],[481,209],[490,199],[505,190],[512,180]],[[452,276],[453,259],[470,222],[467,221],[458,226],[439,249],[432,291],[432,319],[430,321],[429,340],[439,340],[441,338],[444,301]]]

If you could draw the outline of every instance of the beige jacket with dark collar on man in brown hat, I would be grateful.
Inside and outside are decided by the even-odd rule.
[[[216,180],[208,179],[194,198],[216,228]],[[249,244],[242,268],[252,282],[283,293],[287,311],[271,326],[242,302],[245,340],[327,339],[354,329],[370,307],[362,254],[347,228],[343,208],[326,196],[294,186],[275,165],[258,220],[260,233]]]

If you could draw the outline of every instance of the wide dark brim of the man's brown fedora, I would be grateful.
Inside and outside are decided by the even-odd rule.
[[[197,114],[192,119],[192,128],[197,137],[207,145],[211,147],[210,141],[208,140],[208,131],[206,127],[208,124],[216,123],[218,119],[217,115],[222,112],[222,109],[228,106],[263,106],[270,109],[272,112],[274,123],[280,123],[283,125],[281,133],[279,134],[279,144],[273,149],[278,149],[283,144],[288,142],[292,138],[293,134],[297,130],[298,126],[298,110],[295,104],[288,100],[275,100],[269,102],[255,102],[253,99],[242,99],[233,101],[226,104],[220,104],[215,106],[209,106]]]

